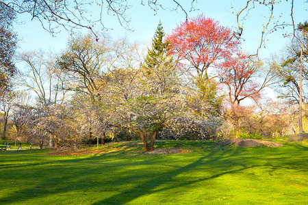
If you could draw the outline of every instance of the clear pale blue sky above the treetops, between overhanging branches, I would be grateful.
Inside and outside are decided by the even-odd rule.
[[[150,43],[157,28],[159,20],[162,21],[162,25],[166,33],[172,31],[181,21],[185,20],[185,14],[181,10],[171,11],[175,8],[175,4],[171,0],[164,1],[166,9],[158,10],[157,14],[149,8],[148,5],[140,5],[140,1],[134,1],[132,8],[127,12],[127,16],[131,18],[130,26],[134,29],[133,32],[127,31],[127,29],[120,26],[114,16],[104,15],[103,21],[105,27],[111,28],[107,32],[114,36],[114,38],[127,36],[131,41],[140,41],[142,43]],[[194,6],[198,10],[190,11],[190,1],[183,0],[183,7],[188,11],[189,16],[196,16],[198,14],[204,14],[205,16],[216,18],[224,26],[234,29],[237,26],[236,16],[232,12],[236,12],[243,8],[246,1],[206,1],[199,0]],[[240,3],[242,2],[242,3]],[[280,22],[292,23],[290,18],[290,1],[283,1],[279,5],[275,5],[274,17],[277,18],[280,15],[282,18]],[[98,14],[97,7],[95,5],[89,7],[92,10],[93,15]],[[294,23],[298,24],[305,20],[308,20],[308,3],[305,0],[299,0],[294,2]],[[242,42],[242,48],[248,53],[253,53],[259,46],[259,40],[261,35],[262,25],[266,23],[270,10],[264,5],[256,5],[254,10],[251,10],[251,14],[246,16],[244,21],[244,33]],[[36,20],[31,20],[31,16],[23,14],[19,16],[20,21],[25,23],[15,25],[14,29],[18,33],[19,42],[18,51],[31,51],[34,49],[52,50],[55,52],[62,51],[66,46],[66,41],[69,38],[67,31],[62,29],[60,33],[57,33],[55,37],[50,33],[42,29],[40,23]],[[97,25],[95,29],[99,30]],[[87,32],[86,29],[81,29],[81,32]],[[292,27],[287,27],[283,30],[275,31],[268,36],[266,40],[266,49],[261,49],[260,56],[268,57],[271,53],[276,53],[281,50],[287,42],[290,42],[290,38],[283,38],[282,33],[292,32]]]

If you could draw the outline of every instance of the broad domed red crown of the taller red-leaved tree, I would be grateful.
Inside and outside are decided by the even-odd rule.
[[[207,68],[215,61],[231,56],[240,43],[229,28],[218,20],[200,15],[178,25],[166,36],[170,53],[189,61],[199,77],[207,78]]]

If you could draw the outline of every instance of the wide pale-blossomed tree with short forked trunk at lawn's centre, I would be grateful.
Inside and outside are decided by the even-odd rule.
[[[167,77],[165,72],[158,78],[161,81],[157,74],[155,70],[151,76],[142,70],[114,70],[104,94],[109,98],[105,100],[105,109],[111,115],[111,125],[137,133],[145,151],[153,150],[157,133],[169,128],[170,119],[181,113],[179,108],[185,99],[176,74],[170,72]],[[163,76],[168,80],[164,81]]]

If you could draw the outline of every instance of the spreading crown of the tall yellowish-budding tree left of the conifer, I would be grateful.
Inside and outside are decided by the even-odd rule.
[[[85,93],[94,100],[94,96],[105,85],[99,77],[112,66],[111,44],[104,36],[96,42],[90,33],[73,36],[57,61],[60,69],[66,73],[64,89]]]

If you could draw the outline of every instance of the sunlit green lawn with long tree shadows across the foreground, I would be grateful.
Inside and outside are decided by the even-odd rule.
[[[185,154],[147,154],[140,143],[108,152],[0,152],[0,204],[306,204],[307,143],[279,148],[158,141]]]

